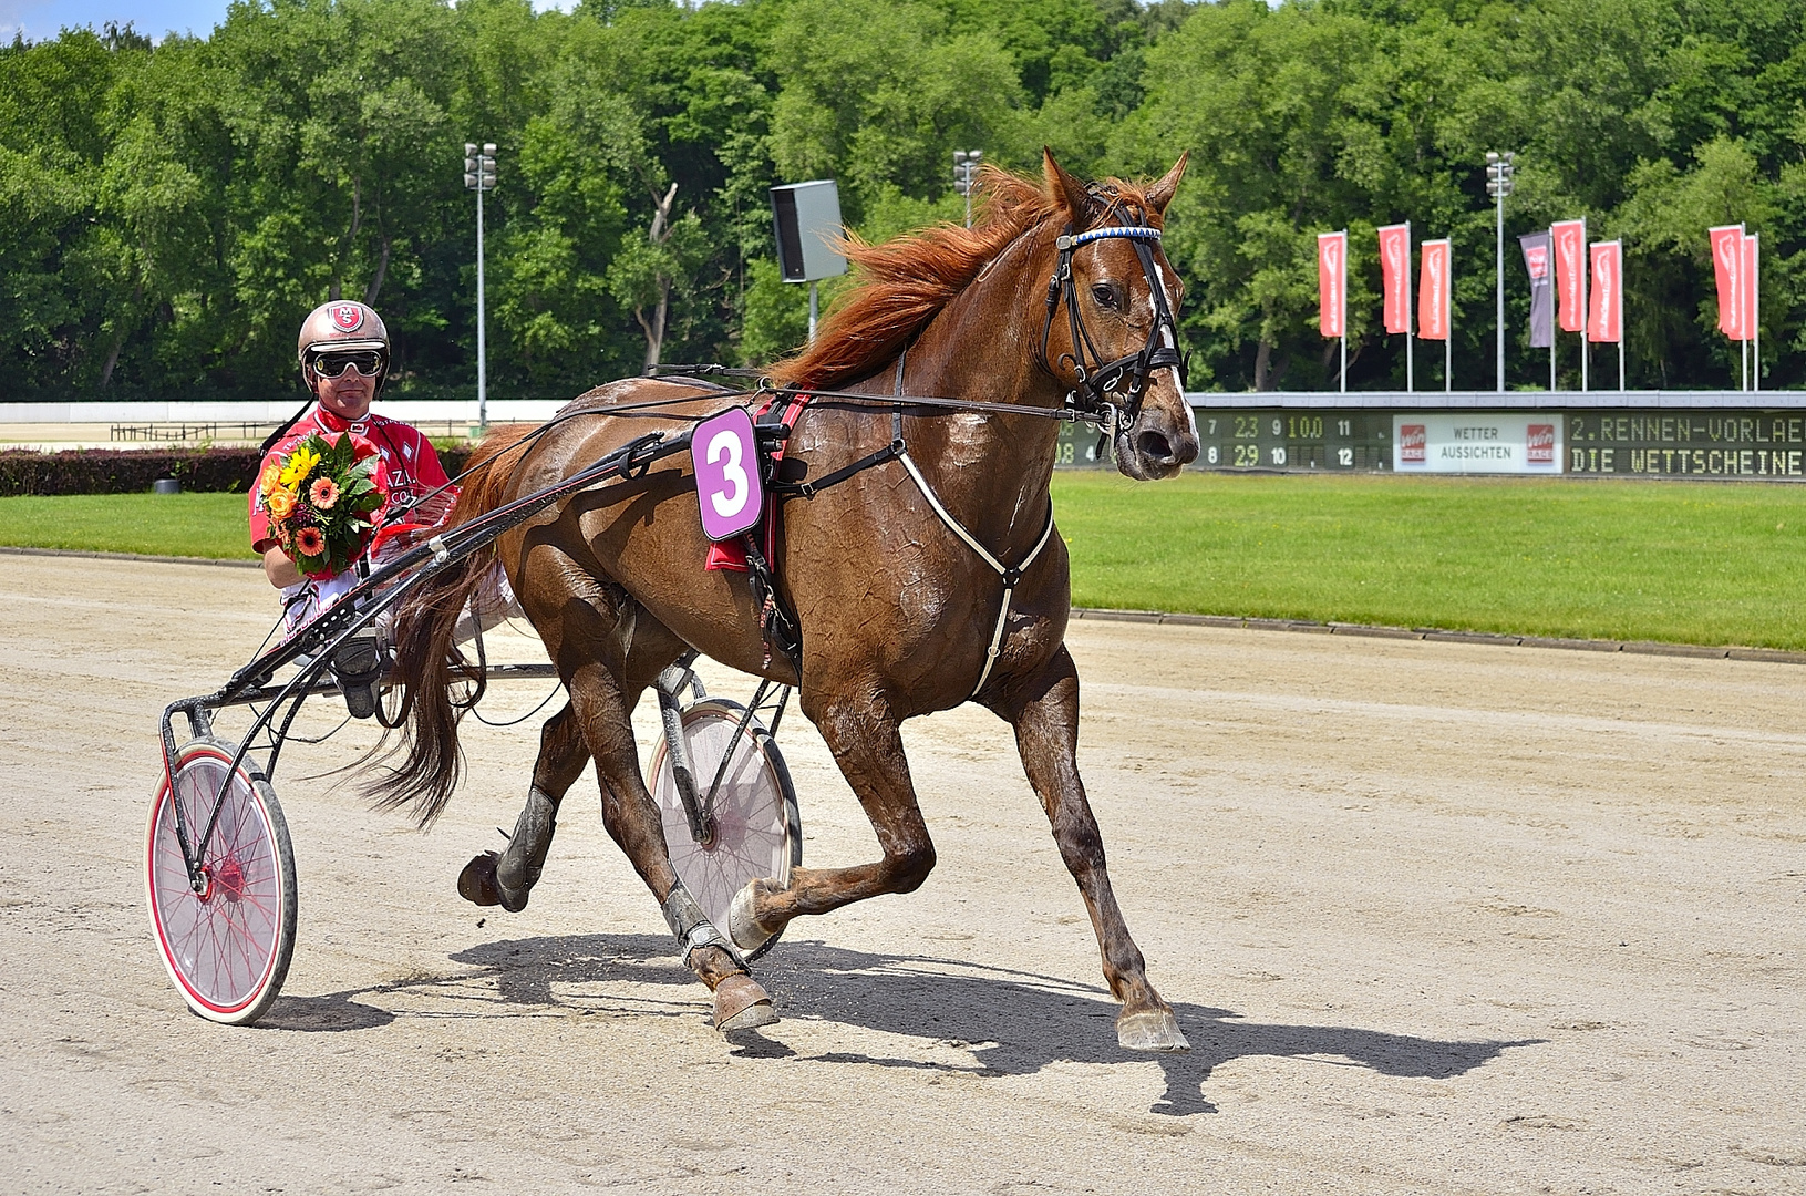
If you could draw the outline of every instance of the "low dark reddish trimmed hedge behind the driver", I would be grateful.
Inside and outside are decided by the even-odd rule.
[[[457,473],[468,448],[441,448],[446,473]],[[182,490],[246,491],[256,481],[255,448],[76,448],[40,453],[29,448],[0,450],[0,497],[14,495],[134,495],[146,493],[159,477],[173,477]]]

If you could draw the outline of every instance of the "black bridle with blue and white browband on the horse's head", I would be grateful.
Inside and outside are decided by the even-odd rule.
[[[1111,210],[1120,211],[1116,201]],[[1141,276],[1147,280],[1154,300],[1154,325],[1147,331],[1147,343],[1138,352],[1114,361],[1105,361],[1096,341],[1085,331],[1085,320],[1078,314],[1078,284],[1073,280],[1073,253],[1080,246],[1094,240],[1122,238],[1134,246],[1136,258],[1141,260]],[[1149,374],[1172,367],[1179,374],[1179,390],[1185,390],[1185,354],[1179,352],[1178,325],[1172,307],[1167,304],[1165,273],[1154,260],[1154,248],[1159,244],[1159,229],[1149,224],[1111,224],[1084,233],[1067,231],[1055,240],[1060,251],[1047,280],[1047,322],[1040,329],[1040,365],[1055,378],[1069,369],[1078,385],[1067,390],[1066,406],[1091,416],[1100,416],[1105,434],[1114,437],[1118,428],[1127,428],[1141,414],[1141,396],[1147,392]],[[1073,332],[1073,352],[1062,352],[1058,361],[1047,360],[1047,340],[1053,336],[1053,318],[1066,300],[1066,318]],[[1089,356],[1089,361],[1087,361]],[[1058,367],[1058,369],[1057,369]],[[1123,383],[1127,381],[1127,392]]]

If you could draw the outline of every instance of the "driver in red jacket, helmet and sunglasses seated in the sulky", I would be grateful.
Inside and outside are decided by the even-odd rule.
[[[423,499],[426,509],[415,515],[415,520],[442,519],[455,491],[444,490],[428,499],[446,486],[446,472],[432,441],[397,419],[370,412],[370,403],[388,374],[388,329],[383,327],[383,318],[350,300],[321,304],[302,323],[296,354],[302,381],[312,392],[314,403],[264,443],[258,477],[316,432],[327,439],[349,434],[367,441],[377,453],[374,481],[383,493],[383,506],[372,515],[377,526],[386,513]],[[264,558],[264,576],[282,591],[285,632],[293,634],[356,585],[358,571],[352,567],[327,580],[303,578],[276,544],[269,519],[258,509],[256,499],[253,486],[251,547]],[[354,714],[359,705],[352,703]]]

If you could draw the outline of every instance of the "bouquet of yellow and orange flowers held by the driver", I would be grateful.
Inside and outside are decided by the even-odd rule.
[[[296,569],[325,580],[363,553],[370,515],[383,506],[374,470],[372,444],[350,434],[329,441],[318,432],[264,470],[258,506]]]

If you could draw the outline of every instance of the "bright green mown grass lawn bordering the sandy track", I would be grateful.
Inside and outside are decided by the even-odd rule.
[[[1053,493],[1078,605],[1806,649],[1806,486],[1064,472]],[[249,558],[244,513],[0,499],[0,544]]]

